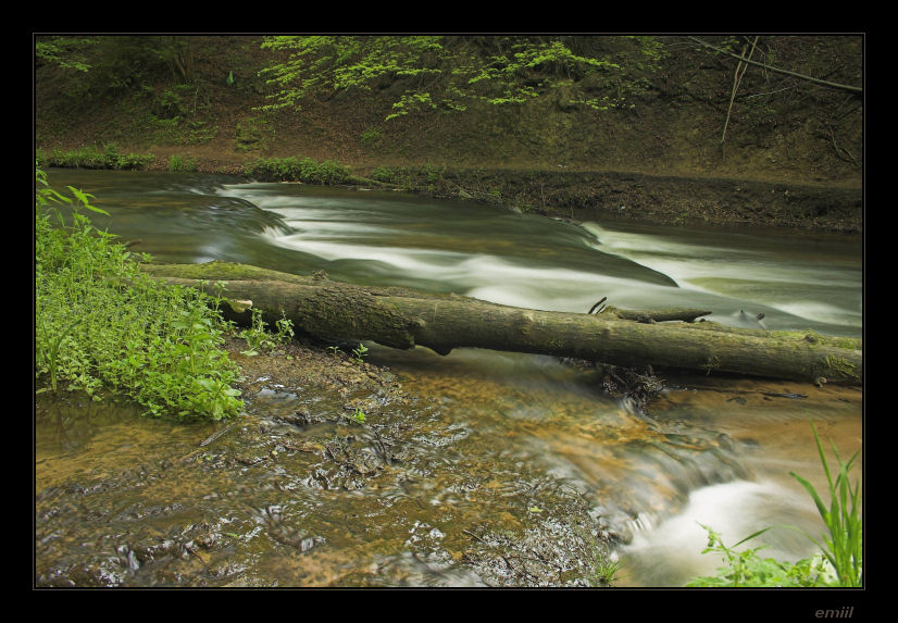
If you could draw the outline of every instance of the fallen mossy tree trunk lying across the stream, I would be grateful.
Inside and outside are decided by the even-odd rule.
[[[401,349],[426,346],[440,354],[473,347],[813,383],[860,384],[862,378],[859,338],[690,322],[711,313],[702,310],[537,311],[459,295],[332,282],[323,272],[307,277],[228,262],[147,264],[144,270],[207,291],[215,290],[215,282],[226,282],[222,297],[251,301],[270,324],[283,314],[295,328],[322,339],[364,339]],[[238,323],[251,317],[245,304],[223,309]]]

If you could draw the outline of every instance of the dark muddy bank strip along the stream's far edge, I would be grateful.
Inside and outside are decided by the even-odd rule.
[[[196,171],[242,175],[242,161],[199,158]],[[157,157],[153,170],[167,169]],[[359,186],[465,199],[526,213],[663,225],[763,226],[861,234],[863,190],[836,183],[653,175],[619,171],[359,167]],[[375,179],[376,178],[376,179]]]

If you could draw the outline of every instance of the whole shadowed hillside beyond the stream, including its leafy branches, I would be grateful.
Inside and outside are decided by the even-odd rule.
[[[766,67],[685,36],[441,37],[421,53],[411,48],[425,38],[392,39],[390,54],[417,54],[414,72],[320,82],[299,109],[265,110],[316,66],[371,62],[366,48],[342,65],[314,49],[290,82],[270,84],[277,74],[260,72],[296,48],[248,36],[38,37],[37,147],[114,145],[152,153],[157,169],[175,157],[233,173],[309,157],[525,211],[860,230],[863,98],[800,76],[862,86],[861,36],[702,39]],[[472,63],[477,79],[464,74]]]

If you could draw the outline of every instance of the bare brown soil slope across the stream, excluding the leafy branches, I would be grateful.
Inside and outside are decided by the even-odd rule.
[[[100,70],[39,66],[37,146],[114,142],[155,154],[158,169],[178,155],[198,171],[230,173],[260,157],[303,155],[362,176],[406,167],[415,172],[406,176],[409,189],[552,215],[862,230],[862,99],[750,67],[731,110],[735,61],[675,37],[633,108],[572,107],[561,89],[521,107],[474,104],[389,122],[401,80],[262,113],[273,87],[259,71],[277,57],[261,38],[188,39],[189,80],[147,70],[139,84],[112,88]],[[769,39],[779,64],[863,82],[861,37]]]

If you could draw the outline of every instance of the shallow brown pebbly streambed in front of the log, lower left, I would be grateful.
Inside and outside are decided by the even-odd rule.
[[[595,504],[485,451],[440,397],[336,349],[240,341],[236,421],[38,402],[38,586],[607,583]]]

